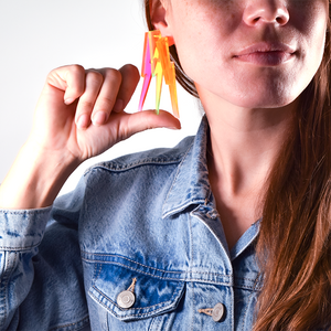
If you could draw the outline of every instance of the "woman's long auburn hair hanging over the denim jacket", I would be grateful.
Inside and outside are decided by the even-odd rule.
[[[150,1],[145,0],[149,30]],[[331,1],[330,1],[331,2]],[[331,330],[331,4],[322,63],[268,179],[256,243],[264,286],[254,331]],[[199,97],[170,50],[177,79]]]

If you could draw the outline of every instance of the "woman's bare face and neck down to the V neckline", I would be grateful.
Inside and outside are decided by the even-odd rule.
[[[268,172],[323,56],[329,2],[161,3],[154,26],[173,40],[209,118],[210,182],[231,248],[261,216]],[[267,52],[279,44],[287,51]]]

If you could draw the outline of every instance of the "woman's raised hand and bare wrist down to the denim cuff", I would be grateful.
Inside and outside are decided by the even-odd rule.
[[[146,129],[180,128],[167,111],[126,114],[139,72],[132,65],[52,71],[39,99],[32,132],[0,186],[0,207],[51,205],[70,174],[86,159]]]

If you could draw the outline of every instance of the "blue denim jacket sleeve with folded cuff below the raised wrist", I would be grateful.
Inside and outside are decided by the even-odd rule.
[[[89,330],[79,194],[82,185],[52,207],[0,210],[1,331]]]

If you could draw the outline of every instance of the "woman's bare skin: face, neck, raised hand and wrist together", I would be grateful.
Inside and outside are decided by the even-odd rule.
[[[328,0],[151,3],[153,25],[175,44],[209,118],[210,182],[232,247],[260,216],[268,171],[298,98],[320,65]],[[257,43],[258,50],[245,54]],[[292,52],[267,54],[273,43]],[[257,54],[260,51],[265,54]],[[84,160],[137,131],[180,128],[168,113],[124,113],[138,77],[130,65],[119,71],[74,65],[51,72],[30,138],[0,188],[0,206],[50,205]]]

